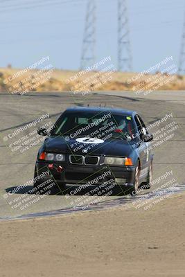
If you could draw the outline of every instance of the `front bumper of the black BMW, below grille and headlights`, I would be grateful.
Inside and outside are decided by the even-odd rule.
[[[53,168],[51,165],[53,164]],[[62,167],[61,172],[58,168]],[[42,178],[53,179],[59,186],[62,184],[81,185],[89,184],[89,186],[97,186],[106,181],[112,181],[119,186],[131,187],[134,184],[134,166],[85,166],[74,165],[70,163],[51,163],[48,161],[37,161],[36,176],[42,175],[43,172],[48,172]]]

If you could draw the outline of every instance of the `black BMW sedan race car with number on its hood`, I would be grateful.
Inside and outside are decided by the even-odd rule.
[[[135,195],[140,187],[151,186],[153,137],[136,111],[71,107],[50,132],[42,127],[37,132],[46,139],[37,154],[36,188],[48,179],[63,191],[68,186],[96,187],[110,180],[124,194]]]

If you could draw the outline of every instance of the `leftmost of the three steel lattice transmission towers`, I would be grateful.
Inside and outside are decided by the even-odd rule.
[[[86,69],[95,61],[96,46],[96,0],[87,0],[85,31],[82,42],[80,69]]]

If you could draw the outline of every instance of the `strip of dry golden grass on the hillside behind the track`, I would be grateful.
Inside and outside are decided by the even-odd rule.
[[[21,70],[0,69],[0,91],[17,93],[18,91],[25,91],[26,89],[28,91],[139,91],[139,89],[149,91],[185,89],[185,76],[168,76],[165,73],[147,74],[137,80],[136,76],[138,73],[121,72],[110,72],[108,78],[105,76],[106,73],[100,74],[97,72],[85,73],[85,75],[75,78],[78,71],[60,71],[55,69],[50,75],[47,75],[49,77],[48,79],[42,78],[42,82],[35,77],[39,72],[37,70],[28,71],[15,78],[15,80],[10,80],[15,73]],[[44,72],[46,73],[46,71],[43,71],[42,74]],[[127,80],[131,79],[132,82],[127,82]],[[84,84],[83,82],[86,83]]]

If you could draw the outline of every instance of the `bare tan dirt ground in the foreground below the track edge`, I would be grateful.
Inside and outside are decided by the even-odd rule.
[[[184,201],[1,222],[0,275],[185,276]]]

